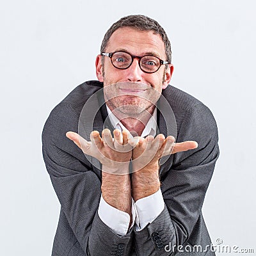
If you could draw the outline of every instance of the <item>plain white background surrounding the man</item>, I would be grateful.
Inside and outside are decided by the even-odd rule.
[[[203,208],[212,242],[256,249],[255,7],[237,0],[1,3],[0,254],[51,255],[60,204],[42,159],[42,128],[71,90],[96,79],[104,33],[129,14],[163,26],[172,85],[216,118],[221,154]]]

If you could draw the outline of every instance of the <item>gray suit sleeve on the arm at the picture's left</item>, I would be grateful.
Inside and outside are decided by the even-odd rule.
[[[78,129],[76,111],[67,104],[54,108],[42,132],[45,166],[68,223],[85,255],[129,255],[132,232],[118,236],[99,218],[101,172],[95,172],[67,131]],[[65,231],[63,231],[65,232]]]

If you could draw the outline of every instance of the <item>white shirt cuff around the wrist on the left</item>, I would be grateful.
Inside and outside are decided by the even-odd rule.
[[[102,220],[116,234],[120,236],[124,236],[127,234],[130,223],[130,215],[127,212],[120,211],[115,207],[109,205],[104,200],[102,195],[100,196],[98,214],[100,220]]]

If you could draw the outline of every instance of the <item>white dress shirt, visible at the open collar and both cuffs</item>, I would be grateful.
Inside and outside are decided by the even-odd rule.
[[[116,118],[111,110],[106,105],[109,120],[115,129],[123,131],[126,129],[124,125]],[[148,120],[145,129],[143,130],[141,137],[148,135],[156,136],[157,130],[157,109],[154,109],[153,115]],[[127,130],[127,129],[126,129]],[[132,224],[131,228],[135,226],[136,231],[140,231],[145,228],[148,223],[156,220],[157,216],[164,209],[164,199],[161,193],[161,189],[153,195],[146,196],[134,202],[132,200]],[[127,212],[120,211],[115,207],[109,205],[104,198],[100,197],[100,204],[98,209],[100,220],[102,220],[109,228],[111,228],[116,234],[124,236],[128,232],[130,215]]]

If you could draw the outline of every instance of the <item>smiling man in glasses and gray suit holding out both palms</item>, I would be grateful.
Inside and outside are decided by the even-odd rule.
[[[155,20],[118,20],[100,51],[99,81],[77,86],[42,134],[61,203],[52,255],[214,255],[201,211],[219,155],[211,111],[168,86],[170,42]]]

